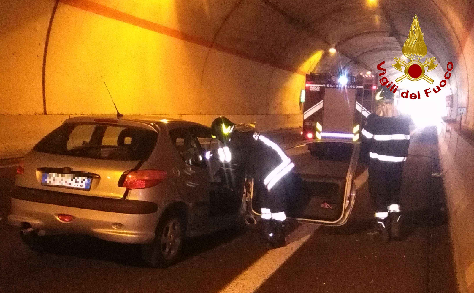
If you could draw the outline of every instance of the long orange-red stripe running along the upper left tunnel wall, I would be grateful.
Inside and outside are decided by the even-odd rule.
[[[110,7],[107,7],[107,6],[104,6],[104,5],[89,1],[89,0],[60,0],[60,2],[63,3],[63,4],[67,4],[69,6],[78,8],[78,9],[82,9],[82,10],[85,10],[85,11],[89,11],[89,12],[92,12],[92,13],[110,18],[110,19],[115,19],[115,20],[118,20],[118,21],[122,21],[122,22],[125,22],[125,23],[128,23],[128,24],[131,24],[133,26],[137,26],[137,27],[140,27],[140,28],[145,28],[145,29],[148,29],[148,30],[151,30],[151,31],[155,31],[157,33],[164,34],[164,35],[172,37],[172,38],[178,38],[178,39],[181,39],[181,40],[184,40],[184,41],[187,41],[187,42],[191,42],[193,44],[200,45],[200,46],[203,46],[203,47],[208,47],[208,48],[212,47],[213,49],[219,50],[219,51],[224,52],[224,53],[228,53],[228,54],[231,54],[231,55],[234,55],[234,56],[237,56],[237,57],[241,57],[241,58],[244,58],[244,59],[247,59],[247,60],[250,60],[250,61],[255,61],[255,62],[258,62],[258,63],[262,63],[264,65],[273,66],[273,67],[276,67],[276,68],[279,68],[279,69],[282,69],[282,70],[285,70],[285,71],[289,71],[289,72],[292,72],[292,73],[296,73],[296,74],[299,74],[299,75],[302,75],[302,76],[306,75],[305,71],[290,68],[290,67],[286,67],[286,66],[281,66],[281,65],[278,65],[278,64],[274,64],[274,63],[270,63],[270,62],[262,60],[260,58],[249,56],[249,55],[247,55],[245,53],[242,53],[242,52],[239,52],[237,50],[234,50],[234,49],[231,49],[231,48],[228,48],[228,47],[224,47],[224,46],[220,46],[219,44],[212,44],[212,42],[210,42],[206,39],[199,38],[199,37],[187,34],[187,33],[183,33],[183,32],[181,32],[177,29],[168,28],[168,27],[162,26],[160,24],[157,24],[155,22],[152,22],[152,21],[149,21],[149,20],[146,20],[146,19],[141,19],[141,18],[133,16],[131,14],[128,14],[128,13],[122,12],[120,10],[113,9],[113,8],[110,8]]]

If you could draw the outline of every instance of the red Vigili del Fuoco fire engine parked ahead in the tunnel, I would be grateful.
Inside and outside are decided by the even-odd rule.
[[[303,139],[359,140],[362,125],[372,110],[376,88],[374,78],[367,76],[306,75],[301,101]]]

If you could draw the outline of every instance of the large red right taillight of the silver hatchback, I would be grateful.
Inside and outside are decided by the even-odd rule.
[[[128,170],[122,174],[118,186],[128,189],[148,188],[165,180],[166,175],[166,171],[162,170]]]

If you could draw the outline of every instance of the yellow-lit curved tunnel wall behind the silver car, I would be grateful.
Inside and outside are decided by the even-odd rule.
[[[204,124],[224,114],[257,121],[261,130],[298,127],[310,68],[286,66],[248,46],[245,28],[241,39],[223,36],[238,31],[239,14],[265,13],[241,2],[60,1],[44,65],[45,103],[42,61],[55,2],[1,4],[2,25],[11,24],[1,30],[2,76],[11,87],[0,89],[0,158],[22,155],[69,115],[115,113],[104,81],[124,114]],[[48,115],[38,116],[44,108]]]

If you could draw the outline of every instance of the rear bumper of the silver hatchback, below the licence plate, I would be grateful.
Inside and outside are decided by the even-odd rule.
[[[155,237],[155,226],[160,213],[161,208],[154,208],[152,213],[124,213],[123,206],[121,208],[111,207],[108,210],[87,209],[77,208],[74,205],[78,205],[74,202],[70,205],[59,205],[51,204],[38,201],[38,198],[29,197],[28,192],[24,192],[21,188],[14,188],[14,193],[19,192],[21,195],[12,193],[11,199],[11,214],[8,216],[8,223],[16,227],[24,227],[25,225],[31,226],[37,231],[42,231],[45,234],[48,233],[80,233],[98,237],[100,239],[119,242],[119,243],[149,243],[153,241]],[[37,190],[36,190],[37,191]],[[48,197],[45,197],[43,191],[39,190],[37,193],[42,198],[54,198],[55,194],[49,192]],[[27,195],[25,195],[27,194]],[[36,194],[38,196],[38,194]],[[22,199],[19,199],[22,198]],[[26,200],[30,199],[30,200]],[[57,198],[55,199],[57,200]],[[87,202],[89,198],[81,199]],[[91,198],[94,201],[94,198]],[[117,200],[117,199],[114,199]],[[117,200],[127,201],[127,200]],[[62,203],[62,202],[59,202]],[[113,205],[112,205],[113,206]],[[120,206],[120,205],[119,205]],[[100,207],[100,205],[99,205]],[[102,207],[102,209],[104,209]],[[117,210],[118,209],[118,210]],[[131,208],[137,211],[137,208]],[[122,212],[118,212],[122,211]],[[62,222],[58,219],[58,214],[67,214],[74,217],[71,222]],[[117,225],[120,224],[120,225]],[[122,226],[121,228],[118,228]]]

